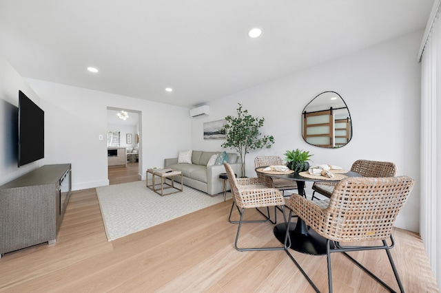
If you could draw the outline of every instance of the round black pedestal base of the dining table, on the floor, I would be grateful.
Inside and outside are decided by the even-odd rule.
[[[286,230],[285,224],[278,224],[274,227],[274,235],[278,241],[285,242]],[[313,255],[326,254],[326,238],[307,227],[302,220],[297,224],[291,223],[289,225],[289,237],[291,237],[292,250]],[[331,243],[331,248],[334,248],[334,243]]]

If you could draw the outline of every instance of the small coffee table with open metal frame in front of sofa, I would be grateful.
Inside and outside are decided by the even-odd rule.
[[[148,184],[149,173],[152,174],[152,184],[150,185]],[[183,185],[183,175],[181,171],[176,171],[172,169],[147,169],[145,175],[146,175],[147,188],[152,189],[152,191],[158,193],[158,195],[161,196],[171,195],[174,193],[181,193],[183,191],[184,185]],[[174,176],[181,176],[181,188],[174,186]],[[155,184],[155,177],[161,178],[161,189],[156,188],[156,185],[159,185],[159,183]],[[167,182],[167,178],[170,180],[170,183]],[[176,191],[170,193],[164,193],[164,190],[167,188],[173,188]],[[159,191],[161,191],[161,193]]]

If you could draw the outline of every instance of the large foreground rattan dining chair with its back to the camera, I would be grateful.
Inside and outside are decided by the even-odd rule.
[[[393,223],[398,212],[409,197],[414,182],[411,177],[350,177],[341,180],[329,200],[327,208],[320,208],[312,201],[308,201],[300,195],[291,195],[289,203],[289,214],[296,213],[298,217],[305,221],[307,226],[314,229],[318,235],[327,239],[327,268],[328,268],[328,287],[332,292],[331,275],[331,253],[342,252],[351,261],[356,263],[362,270],[365,270],[376,281],[381,283],[388,290],[393,292],[384,281],[380,280],[372,272],[367,270],[356,259],[349,256],[347,252],[357,250],[386,250],[387,257],[391,263],[393,274],[395,274],[400,291],[404,292],[400,277],[389,249],[393,248],[395,242],[392,237]],[[288,217],[289,219],[289,217]],[[287,224],[287,231],[289,223]],[[387,239],[391,239],[391,244],[387,244]],[[287,243],[288,237],[285,237]],[[340,242],[354,243],[360,241],[382,241],[382,246],[342,246]],[[331,241],[334,241],[335,248],[331,248]],[[372,243],[372,242],[371,242]],[[365,244],[365,243],[364,243]],[[378,244],[378,243],[377,243]],[[302,270],[296,259],[287,250],[287,254],[296,264],[300,272],[305,276],[309,283],[318,292],[318,288],[311,281],[306,272]],[[345,272],[342,272],[344,274]],[[384,272],[382,272],[384,274]]]

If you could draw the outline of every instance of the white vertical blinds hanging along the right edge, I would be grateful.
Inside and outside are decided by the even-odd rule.
[[[420,235],[441,285],[441,16],[435,1],[418,55],[421,61]]]

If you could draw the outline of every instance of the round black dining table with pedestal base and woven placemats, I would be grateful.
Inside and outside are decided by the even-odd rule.
[[[309,178],[303,177],[299,175],[297,172],[290,174],[283,173],[264,173],[263,169],[265,167],[256,168],[256,173],[260,173],[261,175],[266,175],[274,178],[282,178],[287,180],[294,180],[297,182],[297,191],[299,195],[305,195],[305,182],[339,182],[340,180],[329,180],[329,179],[319,179],[319,178]],[[360,174],[348,171],[344,174],[346,177],[361,177]],[[290,220],[290,219],[289,219]],[[297,217],[296,226],[290,225],[289,227],[289,237],[291,239],[292,250],[296,250],[298,252],[302,252],[305,254],[314,254],[314,255],[322,255],[326,254],[326,239],[317,234],[316,231],[311,229],[309,226],[305,224],[305,221]],[[274,226],[274,235],[281,242],[285,243],[285,235],[287,229],[286,224],[278,224]],[[331,243],[331,248],[334,248],[334,244]]]

